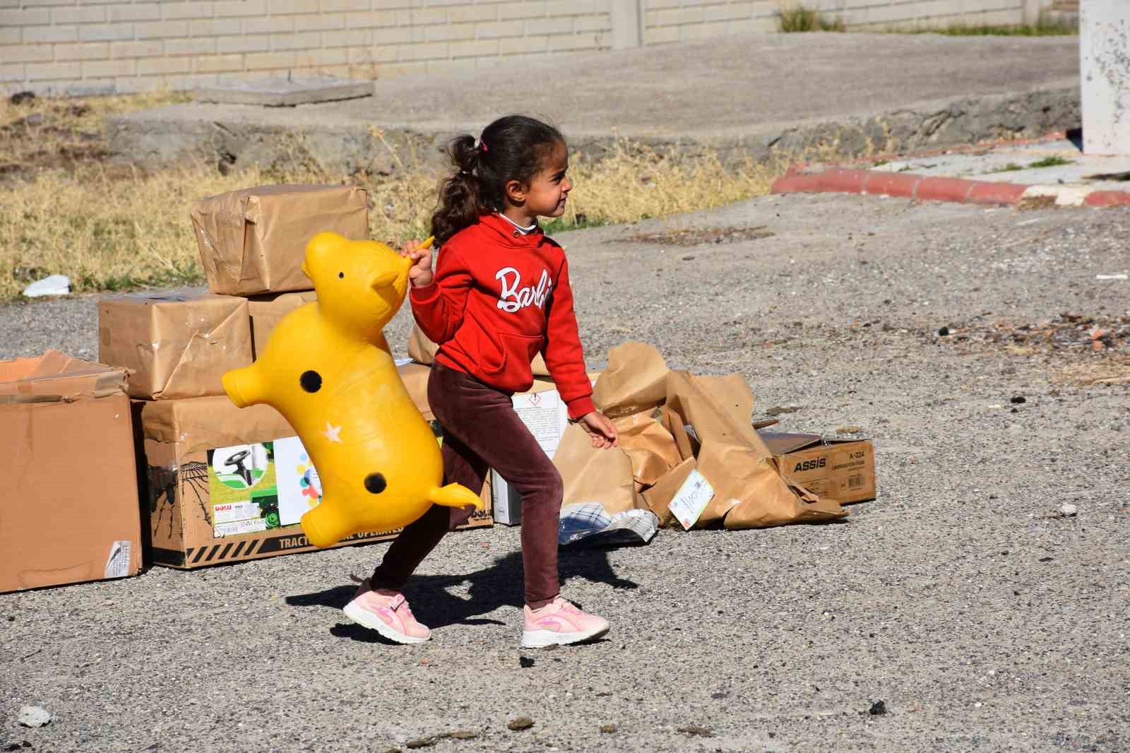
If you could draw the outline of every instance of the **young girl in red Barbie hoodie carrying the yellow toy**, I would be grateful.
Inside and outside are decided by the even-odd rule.
[[[523,648],[577,643],[608,631],[608,622],[560,596],[557,529],[562,478],[514,413],[511,395],[533,382],[539,352],[568,407],[594,447],[617,443],[612,423],[596,409],[573,313],[568,263],[538,217],[560,217],[572,184],[568,152],[557,129],[508,115],[454,139],[458,171],[440,189],[432,234],[441,246],[406,245],[412,314],[440,345],[428,378],[428,405],[444,429],[444,484],[481,488],[494,468],[522,495],[525,577]],[[434,505],[407,526],[345,612],[398,643],[426,641],[401,589],[447,530],[471,508]]]

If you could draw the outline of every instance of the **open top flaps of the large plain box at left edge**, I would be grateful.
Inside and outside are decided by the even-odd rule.
[[[73,401],[125,391],[125,371],[59,350],[0,362],[0,403]]]

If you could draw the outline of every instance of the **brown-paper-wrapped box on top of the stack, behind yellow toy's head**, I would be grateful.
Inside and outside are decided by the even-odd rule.
[[[259,185],[198,201],[189,215],[208,289],[228,295],[310,289],[310,239],[368,237],[368,193],[356,185]]]

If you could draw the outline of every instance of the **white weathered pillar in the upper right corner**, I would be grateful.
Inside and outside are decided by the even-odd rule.
[[[1083,150],[1130,156],[1130,2],[1081,0]]]

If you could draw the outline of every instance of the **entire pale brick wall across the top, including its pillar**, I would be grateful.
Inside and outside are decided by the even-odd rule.
[[[785,0],[788,1],[788,0]],[[1017,23],[1044,0],[808,0],[850,27]],[[0,0],[0,90],[376,79],[773,32],[781,0]]]

